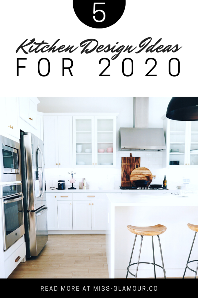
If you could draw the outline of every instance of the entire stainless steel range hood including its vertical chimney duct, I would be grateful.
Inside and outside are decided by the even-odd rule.
[[[134,97],[133,126],[119,130],[119,151],[166,149],[164,129],[148,128],[148,97]]]

